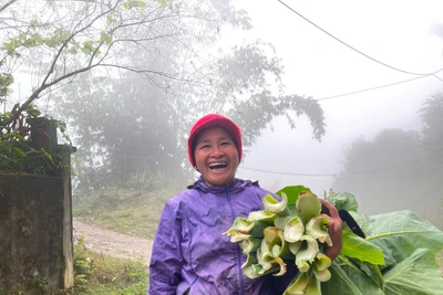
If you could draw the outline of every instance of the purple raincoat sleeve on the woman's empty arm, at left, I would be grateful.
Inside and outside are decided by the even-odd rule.
[[[177,208],[167,202],[155,234],[150,263],[150,295],[176,294],[182,281],[183,254],[181,249],[182,220]]]

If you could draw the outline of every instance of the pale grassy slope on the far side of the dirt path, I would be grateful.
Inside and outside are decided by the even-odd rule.
[[[109,188],[76,201],[73,215],[100,222],[117,232],[153,239],[162,209],[174,194],[168,190],[143,192]]]

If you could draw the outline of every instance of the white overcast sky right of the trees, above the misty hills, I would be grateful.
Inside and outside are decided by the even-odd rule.
[[[426,74],[443,69],[443,39],[432,32],[443,23],[443,1],[284,1],[299,14],[370,57],[405,72]],[[238,0],[249,12],[254,30],[228,35],[271,42],[282,59],[286,92],[315,99],[421,77],[395,71],[347,48],[277,0]],[[443,71],[437,74],[443,80]],[[327,123],[322,143],[311,139],[306,118],[291,130],[284,118],[272,123],[243,161],[238,176],[258,179],[276,190],[305,185],[317,193],[330,188],[340,171],[343,150],[357,138],[371,139],[383,128],[420,129],[416,112],[425,98],[443,89],[434,76],[375,91],[321,101]],[[278,151],[277,151],[278,150]],[[241,168],[243,167],[243,168]]]

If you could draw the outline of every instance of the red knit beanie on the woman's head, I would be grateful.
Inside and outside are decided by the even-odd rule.
[[[237,126],[231,119],[218,115],[218,114],[208,114],[202,118],[199,118],[190,128],[189,137],[187,139],[187,156],[189,158],[189,162],[193,167],[195,167],[195,157],[194,157],[194,148],[195,148],[195,139],[198,134],[204,129],[209,127],[222,127],[226,129],[234,139],[234,143],[238,150],[238,161],[241,161],[243,148],[241,148],[241,130],[240,127]]]

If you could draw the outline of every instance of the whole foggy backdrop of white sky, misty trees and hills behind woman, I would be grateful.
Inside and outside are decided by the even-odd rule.
[[[165,13],[161,2],[153,9]],[[109,63],[131,65],[92,69],[35,102],[68,124],[78,147],[74,201],[112,186],[185,189],[197,177],[187,133],[200,115],[220,112],[245,135],[237,177],[271,191],[348,191],[362,213],[408,209],[442,228],[441,1],[214,0],[181,9],[214,21],[128,30],[150,45],[123,46]],[[34,51],[11,65],[4,110],[35,89],[49,56]]]

